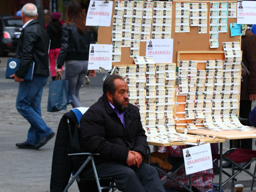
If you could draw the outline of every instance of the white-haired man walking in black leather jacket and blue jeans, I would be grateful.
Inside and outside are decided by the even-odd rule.
[[[50,40],[47,33],[36,20],[38,13],[36,5],[28,3],[22,7],[21,18],[23,29],[20,34],[16,59],[20,59],[14,77],[20,82],[16,100],[16,108],[20,115],[30,123],[28,139],[23,143],[16,143],[18,148],[38,149],[44,146],[55,133],[48,127],[41,115],[41,99],[44,85],[49,76],[48,49]],[[31,61],[35,62],[33,79],[24,80]]]

